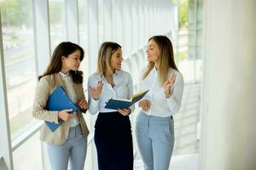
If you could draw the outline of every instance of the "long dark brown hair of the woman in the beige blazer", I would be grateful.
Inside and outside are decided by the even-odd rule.
[[[78,44],[75,44],[73,42],[61,42],[56,48],[54,53],[52,54],[52,57],[49,61],[49,65],[47,66],[46,71],[44,71],[44,74],[38,77],[38,81],[42,77],[45,77],[47,75],[55,74],[61,71],[61,57],[66,57],[69,54],[73,54],[75,51],[79,50],[80,60],[82,61],[84,59],[84,49],[81,48]],[[73,82],[76,83],[82,83],[83,82],[83,72],[82,71],[69,71],[71,74],[71,77],[73,79]]]

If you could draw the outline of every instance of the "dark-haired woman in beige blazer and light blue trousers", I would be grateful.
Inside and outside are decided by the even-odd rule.
[[[88,108],[82,86],[83,73],[78,71],[84,59],[84,50],[72,42],[61,42],[49,61],[42,76],[38,77],[38,86],[34,99],[32,116],[39,120],[59,123],[60,127],[52,132],[44,122],[40,139],[47,143],[48,156],[53,170],[67,169],[70,159],[73,170],[83,170],[87,150],[88,127],[82,112]],[[78,110],[47,111],[49,95],[61,86]]]

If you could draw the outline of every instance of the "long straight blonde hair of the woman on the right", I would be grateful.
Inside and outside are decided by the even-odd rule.
[[[160,77],[160,84],[163,86],[164,83],[167,81],[168,71],[171,68],[177,70],[177,66],[175,65],[175,61],[174,61],[172,42],[166,36],[154,36],[154,37],[150,37],[148,39],[148,42],[150,40],[154,40],[158,48],[160,48],[160,56],[158,60],[159,65],[158,65],[157,72]],[[153,68],[154,68],[154,62],[149,61],[148,68],[143,74],[143,79],[148,77],[149,72],[152,71]]]

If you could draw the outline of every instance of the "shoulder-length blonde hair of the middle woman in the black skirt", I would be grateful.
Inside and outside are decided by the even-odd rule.
[[[104,77],[113,77],[113,71],[111,69],[111,55],[122,48],[116,42],[103,42],[98,53],[97,73]]]

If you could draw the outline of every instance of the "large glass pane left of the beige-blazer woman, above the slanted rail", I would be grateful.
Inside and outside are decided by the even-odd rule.
[[[3,54],[11,136],[36,122],[31,116],[36,86],[32,1],[1,3]]]

